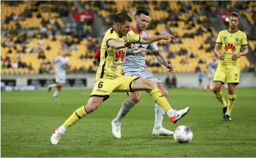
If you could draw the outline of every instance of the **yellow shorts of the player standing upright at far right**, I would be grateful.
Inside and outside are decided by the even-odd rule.
[[[229,67],[217,67],[217,71],[214,75],[215,82],[239,84],[240,67],[229,66]]]

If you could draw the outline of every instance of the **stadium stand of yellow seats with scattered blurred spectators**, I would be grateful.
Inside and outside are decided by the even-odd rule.
[[[150,24],[146,31],[151,35],[172,34],[176,41],[158,42],[158,47],[175,72],[206,72],[206,63],[214,54],[217,32],[208,17],[218,14],[212,1],[82,1],[85,10],[98,14],[106,25],[112,24],[117,12],[134,16],[138,9],[149,9]],[[255,24],[255,6],[251,2],[233,2],[227,10],[240,9]],[[244,12],[243,10],[250,10]],[[71,73],[95,72],[92,56],[100,47],[91,35],[78,38],[70,32],[48,35],[46,30],[63,29],[60,19],[75,11],[72,1],[4,1],[1,2],[1,74],[52,73],[51,61],[60,47],[70,49]],[[88,25],[91,29],[92,25]],[[33,36],[20,30],[36,29]],[[256,41],[249,41],[255,51]],[[152,54],[146,56],[149,71],[168,72]],[[250,67],[246,57],[241,57],[241,71]]]

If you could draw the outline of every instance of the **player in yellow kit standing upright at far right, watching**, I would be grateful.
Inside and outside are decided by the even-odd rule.
[[[235,88],[239,84],[240,56],[248,53],[246,34],[238,30],[239,14],[229,16],[229,29],[219,32],[214,52],[219,64],[214,75],[214,94],[223,106],[223,118],[231,120],[230,113],[236,100]],[[228,80],[228,104],[221,91],[222,84]]]

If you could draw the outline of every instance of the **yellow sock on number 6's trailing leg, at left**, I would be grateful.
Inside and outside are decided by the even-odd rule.
[[[73,126],[75,123],[77,123],[82,117],[88,115],[89,113],[86,112],[85,106],[81,106],[78,108],[72,115],[64,122],[64,126],[66,128]]]

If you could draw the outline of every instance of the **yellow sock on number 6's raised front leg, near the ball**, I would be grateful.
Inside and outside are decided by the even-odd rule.
[[[164,95],[160,92],[158,88],[153,89],[149,93],[153,100],[156,102],[156,104],[160,105],[162,109],[164,109],[165,113],[171,109],[171,105],[167,101],[167,99],[164,97]]]

